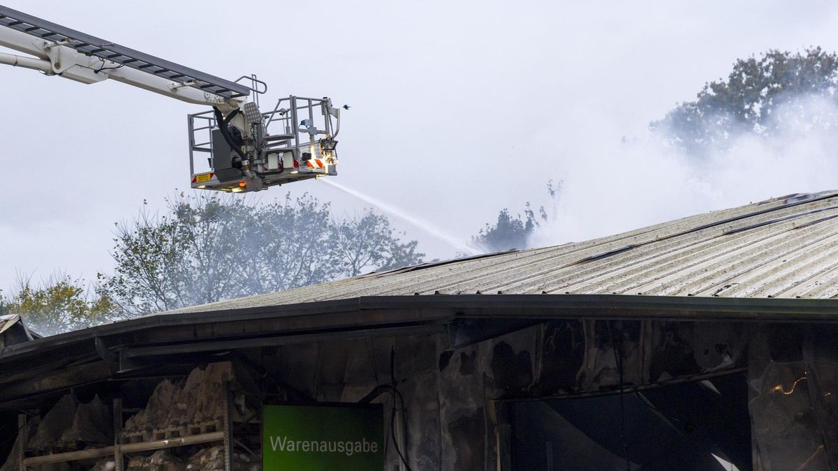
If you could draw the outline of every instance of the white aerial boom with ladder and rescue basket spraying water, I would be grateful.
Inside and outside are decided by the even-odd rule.
[[[84,84],[117,80],[212,106],[189,115],[193,188],[239,193],[337,174],[340,110],[328,97],[288,96],[263,113],[267,85],[255,75],[221,79],[3,5],[0,46],[28,54],[0,52],[0,64]]]

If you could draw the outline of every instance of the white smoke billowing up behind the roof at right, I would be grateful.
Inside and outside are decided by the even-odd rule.
[[[552,175],[564,183],[551,220],[530,246],[632,230],[771,197],[838,189],[838,106],[798,96],[775,107],[766,128],[731,136],[699,158],[651,131],[621,137],[597,116],[561,143]],[[584,128],[584,129],[583,129]],[[542,139],[546,142],[546,138]],[[555,143],[555,139],[552,141]]]

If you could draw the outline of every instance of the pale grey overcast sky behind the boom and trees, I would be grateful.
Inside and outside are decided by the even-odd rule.
[[[335,181],[463,241],[500,208],[541,203],[550,179],[565,180],[562,204],[572,215],[541,237],[545,244],[826,189],[801,185],[838,188],[821,175],[660,201],[649,189],[670,180],[669,168],[646,162],[635,178],[603,144],[645,132],[739,57],[838,49],[834,3],[3,3],[214,75],[256,73],[271,99],[349,104]],[[203,108],[7,66],[0,84],[0,287],[18,272],[91,279],[109,271],[113,224],[137,215],[143,199],[154,210],[189,188],[186,115]],[[317,181],[261,198],[286,191],[333,201],[338,211],[365,207]],[[429,256],[453,256],[446,242],[394,222]]]

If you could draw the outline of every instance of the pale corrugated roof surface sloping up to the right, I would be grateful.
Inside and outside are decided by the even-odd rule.
[[[465,293],[838,298],[838,192],[792,194],[592,241],[370,273],[170,313]]]

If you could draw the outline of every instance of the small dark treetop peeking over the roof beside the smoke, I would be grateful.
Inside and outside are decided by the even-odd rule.
[[[561,182],[554,186],[553,182],[547,183],[547,193],[554,202],[561,192]],[[513,249],[525,249],[529,246],[530,236],[541,224],[549,220],[544,206],[538,208],[538,215],[530,206],[525,204],[524,215],[511,215],[508,208],[498,213],[498,220],[494,225],[486,224],[477,235],[472,236],[472,245],[481,251],[491,253],[497,251],[508,251]]]

